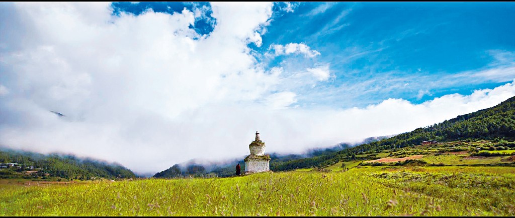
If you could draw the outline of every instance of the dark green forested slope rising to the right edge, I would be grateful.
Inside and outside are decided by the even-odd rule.
[[[465,140],[515,140],[515,96],[491,108],[459,115],[449,121],[418,128],[381,141],[359,145],[300,160],[270,164],[275,171],[298,168],[325,167],[347,160],[368,160],[366,156],[356,156],[363,152],[379,152],[420,145],[423,141],[452,142]],[[505,144],[505,142],[502,142]],[[511,145],[511,144],[510,144]]]

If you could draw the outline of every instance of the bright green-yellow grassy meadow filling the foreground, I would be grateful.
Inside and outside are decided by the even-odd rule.
[[[341,164],[340,164],[341,165]],[[224,179],[0,185],[2,216],[515,215],[513,167],[354,167]]]

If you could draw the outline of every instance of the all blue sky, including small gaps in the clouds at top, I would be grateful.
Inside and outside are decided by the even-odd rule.
[[[165,10],[165,5],[171,9]],[[173,13],[199,7],[191,3],[112,6],[115,13],[134,14],[147,8]],[[422,103],[446,94],[494,88],[515,78],[515,72],[494,81],[463,78],[453,82],[449,77],[492,65],[513,66],[513,3],[305,2],[292,3],[293,11],[286,11],[285,7],[285,3],[274,4],[270,23],[262,35],[263,44],[249,47],[268,68],[297,71],[315,63],[329,64],[333,79],[319,84],[317,90],[300,87],[299,105],[364,107],[390,97]],[[216,25],[210,14],[206,17],[196,19],[200,34],[209,34]],[[271,45],[288,43],[303,43],[320,55],[264,57]],[[507,60],[500,63],[496,59],[500,56]],[[370,91],[352,92],[345,88],[356,85]]]

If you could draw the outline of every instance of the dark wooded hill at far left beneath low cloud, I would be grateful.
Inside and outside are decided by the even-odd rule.
[[[14,172],[31,174],[31,179],[56,179],[59,177],[66,180],[91,180],[137,177],[131,170],[119,164],[109,164],[91,158],[78,158],[69,154],[44,155],[5,147],[0,147],[0,163],[4,165],[3,172],[0,173],[0,176],[3,177],[17,175]],[[11,164],[13,166],[5,167],[7,163],[15,163],[15,165]],[[26,173],[27,171],[31,173]]]

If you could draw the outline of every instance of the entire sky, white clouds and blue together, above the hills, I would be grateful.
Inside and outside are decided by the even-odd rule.
[[[278,153],[412,131],[514,78],[510,2],[0,3],[0,146],[138,173],[256,130]]]

